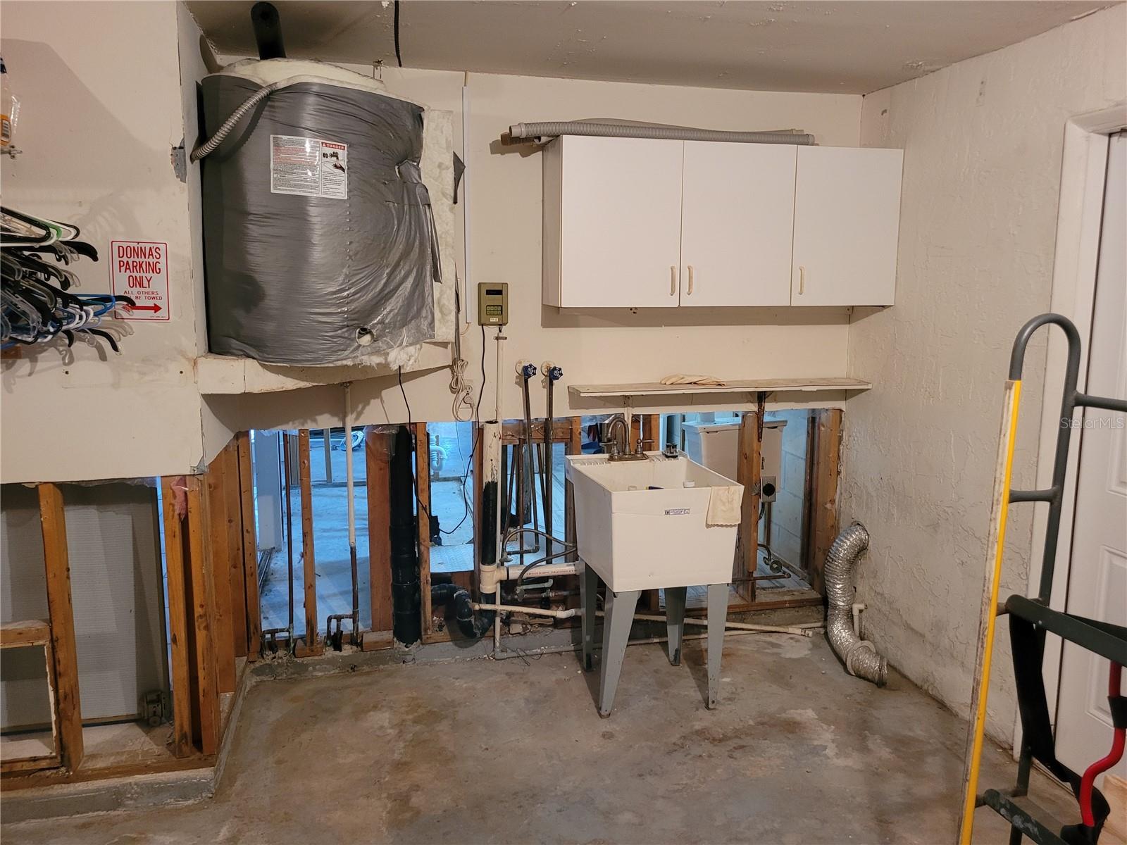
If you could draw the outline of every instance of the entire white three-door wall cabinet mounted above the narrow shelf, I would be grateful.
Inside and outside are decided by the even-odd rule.
[[[890,305],[900,150],[565,135],[544,150],[543,302]]]

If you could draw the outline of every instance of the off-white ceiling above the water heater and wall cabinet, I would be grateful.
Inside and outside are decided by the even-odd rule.
[[[396,63],[390,2],[277,0],[286,53]],[[1015,44],[1107,0],[402,0],[403,66],[867,94]],[[257,55],[249,0],[188,2],[220,53]]]

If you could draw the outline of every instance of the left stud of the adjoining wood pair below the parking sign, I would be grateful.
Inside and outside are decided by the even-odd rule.
[[[168,573],[169,651],[172,660],[172,754],[192,747],[192,681],[188,668],[188,608],[184,585],[184,519],[176,513],[175,479],[160,480],[165,523],[165,571]],[[181,482],[183,483],[183,482]]]

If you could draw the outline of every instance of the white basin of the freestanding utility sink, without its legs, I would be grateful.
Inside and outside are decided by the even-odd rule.
[[[569,455],[567,478],[579,558],[613,592],[731,581],[743,484],[660,452],[647,452],[645,461]],[[725,515],[730,524],[710,525],[709,502],[725,493],[737,502]]]

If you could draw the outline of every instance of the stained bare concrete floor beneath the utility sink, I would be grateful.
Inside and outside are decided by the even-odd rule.
[[[721,703],[629,649],[614,712],[573,655],[263,682],[214,799],[7,825],[35,843],[942,843],[964,722],[893,673],[849,677],[820,637],[734,637]],[[1012,764],[987,748],[984,783]],[[1035,779],[1045,806],[1068,798]],[[1075,809],[1075,803],[1072,803]],[[976,843],[1005,842],[979,810]]]

